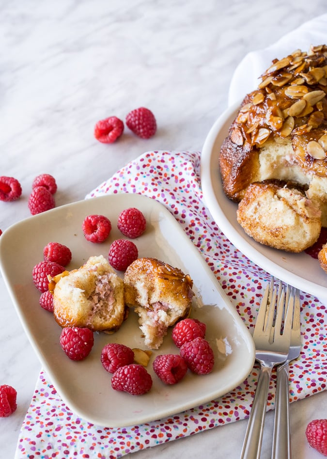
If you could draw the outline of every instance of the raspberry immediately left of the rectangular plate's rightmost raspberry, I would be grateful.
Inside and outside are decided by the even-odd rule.
[[[163,354],[156,356],[153,369],[165,384],[176,384],[186,375],[187,364],[180,355]]]

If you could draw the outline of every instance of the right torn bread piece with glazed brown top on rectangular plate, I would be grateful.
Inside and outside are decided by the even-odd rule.
[[[139,315],[145,345],[158,349],[168,327],[189,315],[193,281],[156,258],[138,258],[125,271],[125,303]]]

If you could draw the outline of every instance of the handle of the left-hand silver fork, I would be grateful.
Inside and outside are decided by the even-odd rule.
[[[261,366],[260,368],[241,459],[260,458],[271,370],[272,367],[270,366]]]

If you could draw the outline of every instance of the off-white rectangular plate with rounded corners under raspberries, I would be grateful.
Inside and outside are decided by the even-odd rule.
[[[114,391],[110,374],[100,362],[101,350],[109,342],[145,349],[134,311],[130,311],[118,332],[94,333],[89,356],[73,362],[60,347],[60,326],[51,313],[39,306],[40,293],[31,278],[33,266],[43,259],[43,248],[51,241],[72,251],[67,269],[78,268],[91,255],[107,257],[110,243],[123,237],[117,229],[117,218],[127,207],[139,208],[147,220],[145,233],[134,239],[139,256],[156,257],[189,273],[193,279],[192,317],[207,325],[206,338],[216,359],[211,374],[197,376],[188,371],[180,383],[165,385],[153,372],[152,362],[158,354],[178,353],[169,332],[160,349],[152,354],[147,369],[154,383],[143,396]],[[90,214],[106,215],[111,221],[112,231],[102,244],[88,242],[83,236],[81,225]],[[254,346],[248,329],[182,227],[164,206],[151,198],[138,194],[108,195],[18,222],[0,237],[0,267],[17,314],[55,388],[73,412],[93,424],[124,427],[182,412],[226,394],[245,380],[252,369]],[[123,277],[123,273],[118,274]]]

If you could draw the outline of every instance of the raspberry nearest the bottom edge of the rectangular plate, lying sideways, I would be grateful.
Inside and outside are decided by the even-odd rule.
[[[111,387],[115,391],[142,395],[151,389],[152,378],[142,365],[124,365],[117,368],[112,375]]]

